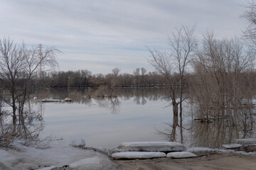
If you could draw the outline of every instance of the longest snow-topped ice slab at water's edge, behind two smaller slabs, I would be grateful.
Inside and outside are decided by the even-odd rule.
[[[117,148],[120,152],[176,152],[185,149],[186,147],[178,142],[123,142]]]

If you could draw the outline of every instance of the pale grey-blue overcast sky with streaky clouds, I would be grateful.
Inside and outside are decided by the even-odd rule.
[[[58,70],[107,74],[154,71],[146,47],[168,52],[168,36],[196,24],[196,35],[242,35],[245,0],[0,0],[0,38],[56,47]]]

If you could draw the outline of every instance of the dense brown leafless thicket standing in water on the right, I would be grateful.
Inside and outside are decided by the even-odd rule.
[[[208,33],[193,62],[196,76],[191,99],[198,105],[197,116],[207,122],[230,120],[226,125],[235,127],[237,137],[240,121],[245,125],[253,121],[250,106],[255,91],[250,86],[255,82],[248,72],[254,62],[252,54],[239,38],[218,40]]]

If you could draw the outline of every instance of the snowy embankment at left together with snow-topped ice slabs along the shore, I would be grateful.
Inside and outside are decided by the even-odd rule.
[[[0,148],[0,169],[54,170],[63,169],[62,167],[68,167],[68,169],[118,169],[119,166],[112,162],[110,157],[112,159],[152,159],[161,157],[184,159],[203,156],[208,153],[235,153],[256,156],[255,139],[238,140],[238,142],[241,144],[223,145],[226,149],[206,147],[186,149],[177,142],[124,142],[117,148],[104,149],[85,147],[85,140],[82,139],[70,141],[69,145],[63,141],[54,141],[48,144],[49,147],[36,149],[35,147],[24,147],[18,142],[14,142],[12,149]],[[254,149],[254,152],[247,153],[237,149],[247,148],[248,146]]]

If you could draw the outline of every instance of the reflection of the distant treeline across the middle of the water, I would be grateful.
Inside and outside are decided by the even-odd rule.
[[[111,94],[111,96],[110,96]],[[99,107],[110,108],[112,113],[119,112],[120,99],[129,101],[133,98],[137,105],[145,105],[147,101],[156,101],[167,98],[165,89],[152,88],[129,88],[129,89],[46,89],[37,94],[38,99],[54,98],[64,99],[72,98],[72,103],[86,104],[91,106],[93,101]]]

